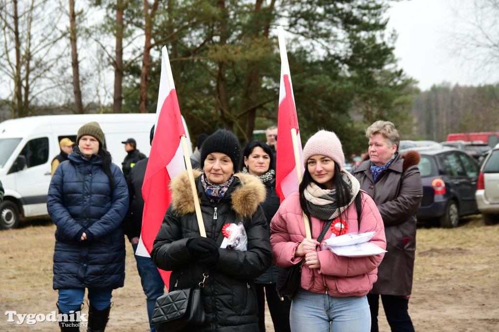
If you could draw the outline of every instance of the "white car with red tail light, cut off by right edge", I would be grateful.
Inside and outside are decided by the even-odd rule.
[[[475,196],[485,224],[499,221],[499,144],[482,164]]]

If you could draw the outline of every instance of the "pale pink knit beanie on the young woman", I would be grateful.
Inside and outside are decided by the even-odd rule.
[[[341,142],[333,132],[320,130],[310,137],[303,148],[303,166],[307,166],[308,158],[315,155],[323,155],[335,161],[340,169],[345,164],[345,156],[341,149]]]

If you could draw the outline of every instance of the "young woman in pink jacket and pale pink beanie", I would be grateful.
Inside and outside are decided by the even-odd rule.
[[[322,130],[313,135],[303,149],[303,161],[299,190],[282,202],[270,223],[274,263],[289,267],[304,262],[301,285],[291,303],[291,331],[368,332],[371,315],[366,294],[376,282],[384,254],[337,256],[320,244],[333,233],[375,231],[369,242],[385,249],[383,220],[357,179],[342,169],[343,150],[334,133]],[[312,239],[305,237],[303,212]],[[323,240],[317,242],[330,220]]]

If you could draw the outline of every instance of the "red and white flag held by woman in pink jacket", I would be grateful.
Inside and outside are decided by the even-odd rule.
[[[284,30],[277,27],[279,38],[279,50],[281,56],[281,78],[279,88],[279,113],[277,117],[277,160],[275,171],[275,191],[284,200],[290,193],[298,190],[298,174],[293,149],[293,138],[291,129],[296,130],[297,149],[299,153],[300,169],[303,169],[303,154],[301,149],[300,135],[298,133],[298,118],[294,106],[293,86],[287,62],[286,44],[284,42]]]

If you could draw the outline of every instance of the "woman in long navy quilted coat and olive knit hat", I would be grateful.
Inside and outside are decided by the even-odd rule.
[[[121,222],[128,209],[123,173],[103,148],[97,122],[78,130],[77,146],[54,172],[47,209],[55,231],[53,288],[61,331],[79,331],[81,304],[88,288],[88,330],[104,331],[112,290],[125,280],[125,239]],[[66,319],[67,318],[67,319]],[[73,319],[73,320],[71,320]]]

